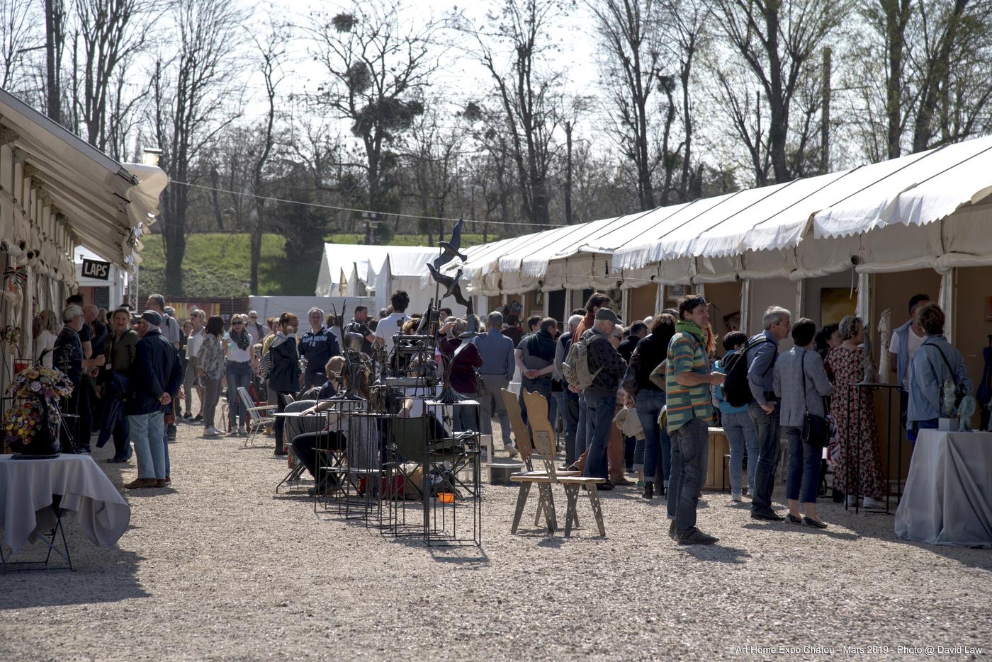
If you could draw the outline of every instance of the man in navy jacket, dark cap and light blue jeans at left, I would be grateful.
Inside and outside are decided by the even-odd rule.
[[[183,383],[183,364],[161,325],[162,315],[155,310],[143,312],[138,322],[141,340],[124,409],[138,456],[138,480],[124,486],[129,490],[166,487],[165,412],[172,406],[171,393]]]

